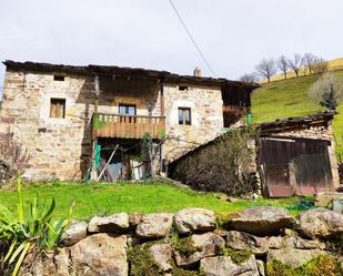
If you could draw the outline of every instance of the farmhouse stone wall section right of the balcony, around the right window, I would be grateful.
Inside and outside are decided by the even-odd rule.
[[[173,161],[190,150],[213,140],[223,131],[223,101],[220,88],[195,88],[180,91],[164,86],[167,133],[164,157]],[[179,124],[178,108],[191,109],[191,125]]]

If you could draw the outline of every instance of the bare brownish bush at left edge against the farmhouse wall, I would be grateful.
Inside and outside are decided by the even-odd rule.
[[[29,166],[30,155],[8,132],[0,135],[0,181],[13,180]]]

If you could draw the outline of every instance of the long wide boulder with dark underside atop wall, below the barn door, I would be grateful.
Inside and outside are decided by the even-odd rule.
[[[294,223],[295,219],[290,212],[272,206],[246,208],[231,218],[234,229],[256,235],[278,233]]]

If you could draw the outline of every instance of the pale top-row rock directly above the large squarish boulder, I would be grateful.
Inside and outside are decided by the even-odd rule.
[[[123,233],[129,229],[129,215],[127,213],[111,216],[94,216],[88,226],[90,233]]]

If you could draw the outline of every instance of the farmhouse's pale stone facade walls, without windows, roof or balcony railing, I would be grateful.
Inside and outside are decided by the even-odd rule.
[[[100,80],[103,91],[99,112],[118,114],[119,104],[137,105],[138,115],[161,115],[160,86],[157,82]],[[94,83],[91,76],[64,75],[54,81],[53,73],[8,70],[3,103],[0,109],[0,132],[10,130],[30,152],[28,178],[80,180],[92,154],[91,119],[94,111]],[[65,117],[50,117],[50,99],[65,99]],[[173,159],[205,141],[223,127],[220,89],[165,84],[168,140],[164,159]],[[192,125],[179,125],[178,108],[189,106]],[[174,150],[176,149],[176,150]]]

